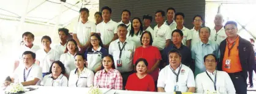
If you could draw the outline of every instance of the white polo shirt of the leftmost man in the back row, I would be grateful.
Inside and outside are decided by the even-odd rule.
[[[77,34],[77,38],[81,45],[85,45],[90,39],[91,32],[96,32],[96,25],[89,20],[85,22],[85,24],[79,21],[73,29],[73,33]]]

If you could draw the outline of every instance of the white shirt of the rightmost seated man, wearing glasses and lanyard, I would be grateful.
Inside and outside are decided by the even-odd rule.
[[[215,79],[216,75],[216,91],[219,93],[227,93],[227,94],[235,94],[236,90],[233,85],[233,82],[228,75],[228,73],[224,71],[214,71],[213,73],[210,73],[206,71],[211,79]],[[200,73],[195,77],[195,91],[197,93],[207,93],[209,92],[215,92],[214,90],[214,83],[211,81],[209,76],[206,74],[206,72]],[[217,73],[216,73],[217,72]]]

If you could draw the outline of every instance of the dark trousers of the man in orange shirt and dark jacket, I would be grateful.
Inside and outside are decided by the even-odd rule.
[[[247,94],[247,83],[242,73],[228,73],[236,90],[236,94]]]

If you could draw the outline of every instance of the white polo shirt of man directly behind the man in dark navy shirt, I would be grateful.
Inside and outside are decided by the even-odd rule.
[[[177,28],[175,27],[175,29],[177,29]],[[182,41],[182,43],[183,43],[183,45],[187,46],[187,44],[186,44],[187,40],[192,39],[191,31],[189,29],[187,29],[185,26],[183,26],[183,29],[181,29],[181,31],[183,31],[183,41]],[[173,30],[171,30],[171,33],[172,32],[173,32]]]

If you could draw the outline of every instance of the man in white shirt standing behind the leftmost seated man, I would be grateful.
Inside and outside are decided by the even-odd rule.
[[[15,58],[15,63],[14,63],[14,69],[13,71],[18,67],[18,66],[23,66],[24,64],[23,63],[20,63],[20,62],[23,62],[22,61],[22,54],[25,52],[25,51],[31,51],[31,52],[34,52],[36,53],[37,50],[40,49],[39,45],[35,45],[33,44],[33,41],[34,41],[34,35],[31,33],[31,32],[25,32],[23,33],[22,35],[22,39],[23,39],[23,42],[24,44],[20,45],[20,47],[18,47],[19,49],[17,49],[17,56]]]

